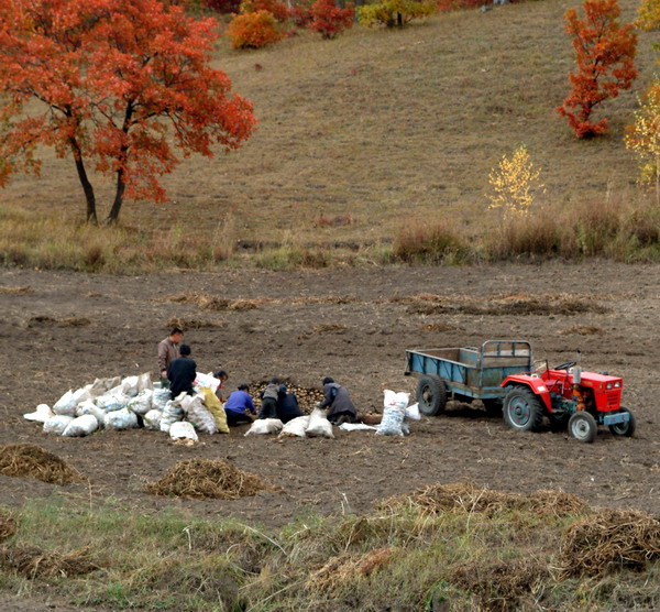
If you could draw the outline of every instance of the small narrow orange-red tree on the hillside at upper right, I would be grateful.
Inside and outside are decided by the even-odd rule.
[[[594,108],[629,89],[637,76],[637,36],[631,23],[619,24],[617,0],[585,0],[583,8],[584,19],[575,9],[565,13],[578,69],[569,75],[572,90],[557,111],[569,120],[578,138],[590,138],[607,130],[606,118],[592,123]]]

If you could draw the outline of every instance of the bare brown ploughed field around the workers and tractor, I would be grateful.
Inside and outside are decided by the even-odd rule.
[[[92,484],[57,488],[0,477],[2,503],[64,489],[92,501],[112,496],[143,512],[174,503],[200,515],[278,525],[306,509],[367,511],[374,500],[425,483],[472,479],[513,492],[562,488],[596,505],[657,513],[659,287],[660,266],[610,263],[141,277],[3,271],[0,444],[41,445]],[[256,307],[209,310],[165,299],[184,291],[253,299]],[[425,293],[447,299],[420,297]],[[59,438],[22,418],[97,376],[155,373],[156,342],[175,316],[226,324],[191,329],[186,341],[201,371],[221,365],[230,372],[230,390],[275,374],[306,386],[332,375],[363,409],[381,406],[383,389],[413,391],[415,381],[403,375],[406,348],[528,338],[535,357],[550,364],[573,359],[580,348],[584,369],[624,376],[638,434],[614,438],[604,429],[584,445],[565,433],[515,433],[476,405],[454,405],[444,416],[413,424],[405,439],[359,431],[334,440],[280,440],[244,438],[244,429],[234,429],[184,448],[146,430]],[[144,482],[190,457],[228,458],[285,493],[191,502],[142,492]]]

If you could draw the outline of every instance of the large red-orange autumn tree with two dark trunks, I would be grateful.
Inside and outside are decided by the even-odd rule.
[[[255,125],[251,103],[210,67],[217,23],[158,0],[0,0],[0,186],[38,173],[40,144],[70,155],[97,222],[88,166],[124,197],[167,199],[179,153],[229,151]]]

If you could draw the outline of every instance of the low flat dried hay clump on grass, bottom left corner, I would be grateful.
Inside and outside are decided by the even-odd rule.
[[[66,555],[42,550],[36,546],[0,548],[0,568],[15,571],[25,578],[82,576],[100,568],[90,560],[88,548]]]

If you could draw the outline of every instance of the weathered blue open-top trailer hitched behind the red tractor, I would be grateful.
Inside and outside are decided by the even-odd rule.
[[[527,340],[487,340],[481,348],[407,350],[406,360],[406,375],[420,376],[417,402],[428,416],[440,414],[450,398],[481,400],[487,411],[498,411],[504,379],[534,368]]]

